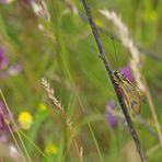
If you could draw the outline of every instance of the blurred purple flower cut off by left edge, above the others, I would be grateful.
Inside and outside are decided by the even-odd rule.
[[[0,47],[0,70],[4,70],[9,65],[9,58],[3,47]]]

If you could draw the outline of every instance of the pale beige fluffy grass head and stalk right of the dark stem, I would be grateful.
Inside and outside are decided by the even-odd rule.
[[[138,68],[140,67],[140,57],[139,57],[140,51],[138,47],[136,46],[136,44],[134,43],[132,38],[129,36],[128,27],[123,23],[121,19],[115,12],[109,12],[108,10],[107,11],[101,10],[101,13],[105,15],[105,18],[107,18],[108,20],[112,20],[114,25],[118,28],[119,37],[120,37],[123,45],[126,48],[128,48],[131,54],[130,68],[134,72],[134,76],[136,76],[136,81],[137,81],[138,86],[146,94],[148,99],[152,118],[153,118],[153,121],[154,121],[154,125],[158,131],[159,140],[162,146],[162,134],[160,130],[160,124],[159,124],[155,108],[152,102],[152,97],[151,97],[149,88],[147,85],[146,79],[141,77],[141,69]]]

